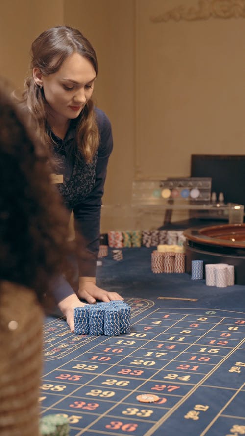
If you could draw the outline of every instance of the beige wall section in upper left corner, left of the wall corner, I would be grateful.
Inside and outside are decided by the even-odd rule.
[[[0,0],[0,75],[22,89],[32,41],[63,23],[63,0]]]

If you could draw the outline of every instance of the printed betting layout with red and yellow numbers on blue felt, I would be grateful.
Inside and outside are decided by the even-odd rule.
[[[67,416],[71,436],[245,434],[245,314],[153,304],[134,300],[129,334],[77,337],[66,357],[47,355],[43,413]],[[56,322],[62,350],[74,337]],[[138,402],[145,393],[159,400]]]

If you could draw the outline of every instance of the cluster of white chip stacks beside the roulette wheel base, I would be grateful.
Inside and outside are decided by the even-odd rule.
[[[227,287],[234,285],[234,265],[210,263],[205,265],[207,286]]]

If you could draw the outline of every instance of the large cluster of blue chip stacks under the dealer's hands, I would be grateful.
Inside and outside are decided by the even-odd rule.
[[[74,308],[75,334],[118,336],[130,333],[131,307],[121,300]]]

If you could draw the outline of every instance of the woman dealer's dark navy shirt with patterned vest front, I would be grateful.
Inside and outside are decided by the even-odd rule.
[[[62,140],[51,132],[54,154],[59,158],[57,174],[64,181],[56,185],[66,207],[74,213],[76,236],[82,234],[85,248],[79,257],[79,275],[95,277],[99,249],[101,198],[109,156],[113,148],[111,124],[105,113],[95,109],[100,142],[91,163],[76,157],[75,144],[77,120],[71,121]],[[72,147],[71,147],[72,145]],[[71,153],[71,150],[73,152]],[[64,297],[63,297],[64,298]]]

